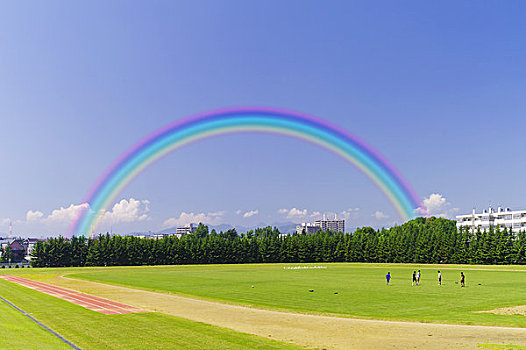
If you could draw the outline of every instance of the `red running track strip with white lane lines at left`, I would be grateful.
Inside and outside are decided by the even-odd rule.
[[[12,275],[2,275],[0,276],[0,278],[3,278],[10,282],[18,283],[24,287],[28,287],[45,294],[52,295],[62,300],[67,300],[70,303],[83,306],[86,309],[97,311],[105,315],[149,312],[147,310],[142,310],[131,305],[121,304],[112,300],[95,297],[93,295],[84,294],[74,290],[28,280],[27,278]]]

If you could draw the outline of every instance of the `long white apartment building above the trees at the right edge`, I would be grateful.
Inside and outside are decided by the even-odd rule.
[[[482,213],[457,215],[457,228],[469,227],[473,232],[480,228],[481,231],[489,230],[490,227],[508,227],[515,233],[526,231],[526,210],[514,210],[498,207],[497,210],[489,207]]]

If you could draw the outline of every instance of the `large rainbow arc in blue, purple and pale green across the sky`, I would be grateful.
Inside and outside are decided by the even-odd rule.
[[[272,133],[321,146],[341,156],[367,175],[408,220],[423,208],[419,197],[380,153],[355,135],[321,119],[270,108],[235,108],[212,111],[176,121],[131,147],[93,185],[83,200],[68,235],[95,230],[101,215],[118,194],[144,169],[166,154],[189,143],[241,132]]]

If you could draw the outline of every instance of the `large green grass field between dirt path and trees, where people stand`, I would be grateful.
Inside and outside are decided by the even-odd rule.
[[[294,266],[327,268],[288,269]],[[421,285],[411,286],[412,272],[419,269]],[[437,270],[442,271],[441,286]],[[460,271],[466,275],[465,288],[458,284]],[[392,276],[389,286],[387,272]],[[526,304],[526,267],[522,266],[191,265],[103,268],[68,277],[302,312],[526,327],[521,315],[475,313]]]

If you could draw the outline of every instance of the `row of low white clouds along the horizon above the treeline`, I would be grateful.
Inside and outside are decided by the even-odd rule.
[[[432,193],[428,197],[424,198],[422,212],[426,212],[429,216],[443,217],[443,218],[454,218],[458,212],[457,208],[453,208],[451,203],[445,196],[440,193]],[[42,234],[44,232],[49,233],[62,233],[65,234],[70,223],[77,218],[79,213],[82,211],[90,210],[88,203],[82,204],[70,204],[67,207],[60,207],[54,209],[51,212],[46,213],[42,210],[30,209],[25,213],[24,219],[12,220],[15,234],[17,232],[38,232]],[[339,219],[345,219],[349,225],[391,225],[394,218],[390,214],[382,210],[375,210],[374,212],[362,213],[360,208],[347,208],[338,213],[334,212],[323,212],[322,210],[313,210],[302,207],[291,207],[281,208],[273,212],[273,215],[261,217],[263,220],[270,220],[269,222],[278,220],[287,220],[294,223],[301,222],[313,222],[319,220],[326,213],[329,219],[333,219],[335,214],[338,215]],[[219,225],[228,223],[232,225],[240,224],[240,220],[246,220],[248,222],[254,218],[260,218],[260,210],[256,208],[249,209],[238,209],[231,212],[231,215],[226,215],[227,211],[210,211],[210,212],[180,212],[178,215],[169,217],[165,220],[159,220],[155,222],[150,216],[150,201],[146,199],[122,199],[115,203],[111,209],[104,210],[101,212],[100,228],[108,229],[109,227],[116,224],[129,224],[131,230],[134,224],[141,222],[151,223],[153,229],[166,229],[170,227],[180,227],[190,223],[205,223],[208,225]],[[235,214],[235,215],[234,215]],[[368,219],[369,218],[369,219]],[[372,220],[372,221],[371,221]],[[0,220],[0,224],[7,228],[11,220],[4,218]],[[162,223],[162,224],[161,224]],[[143,224],[144,226],[144,224]],[[122,229],[122,226],[121,226]],[[5,229],[4,229],[5,230]]]

